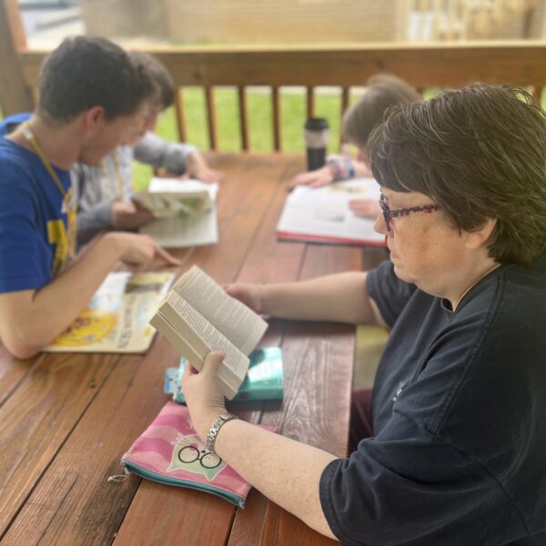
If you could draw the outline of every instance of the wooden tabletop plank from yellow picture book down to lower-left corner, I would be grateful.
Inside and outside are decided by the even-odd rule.
[[[118,356],[48,355],[0,409],[0,536],[56,457]]]

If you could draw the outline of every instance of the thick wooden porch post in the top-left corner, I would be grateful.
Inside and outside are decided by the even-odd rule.
[[[26,46],[17,0],[0,0],[0,106],[4,116],[34,109],[17,55]]]

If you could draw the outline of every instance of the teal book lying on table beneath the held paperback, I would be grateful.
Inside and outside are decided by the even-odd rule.
[[[232,400],[244,402],[248,400],[281,400],[283,396],[282,352],[278,347],[253,350],[249,355],[250,365],[245,380]],[[172,394],[173,400],[179,404],[186,403],[182,392],[182,375],[187,359],[180,359],[178,368],[168,368],[165,372],[166,394]]]

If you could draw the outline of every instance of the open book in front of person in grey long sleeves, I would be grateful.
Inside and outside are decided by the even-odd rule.
[[[157,217],[140,227],[140,233],[146,233],[164,248],[216,244],[217,192],[217,184],[200,180],[152,178],[147,191],[133,197]]]

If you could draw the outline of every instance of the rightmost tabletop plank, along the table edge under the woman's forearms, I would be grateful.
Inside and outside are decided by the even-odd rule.
[[[361,269],[359,248],[306,247],[304,263],[296,278]],[[277,426],[288,438],[344,457],[349,435],[354,343],[351,326],[288,322],[282,343],[285,397],[281,408],[266,403],[261,422]],[[245,511],[237,511],[228,542],[230,546],[299,543],[335,542],[312,531],[258,492],[249,498]]]

